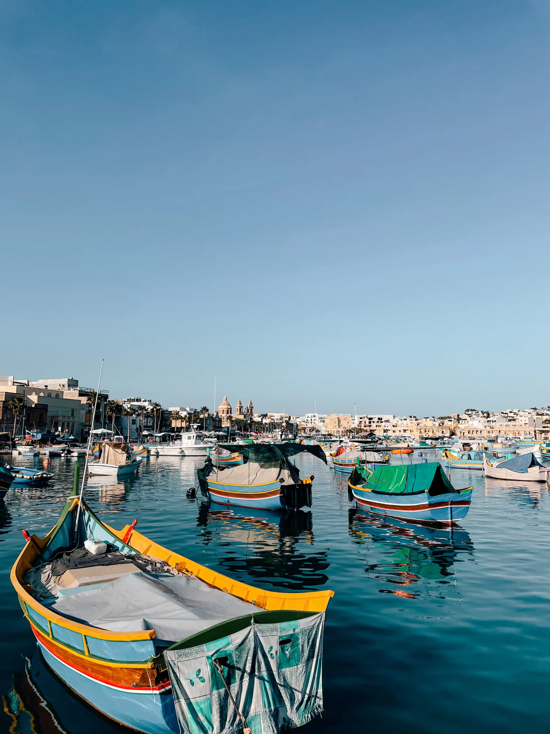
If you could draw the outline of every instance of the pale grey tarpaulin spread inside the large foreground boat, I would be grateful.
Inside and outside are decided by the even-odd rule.
[[[103,630],[155,630],[158,639],[169,642],[257,611],[252,604],[211,589],[198,578],[143,572],[62,597],[51,608]]]

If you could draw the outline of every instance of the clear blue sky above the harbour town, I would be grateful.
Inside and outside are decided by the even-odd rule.
[[[550,2],[0,0],[2,374],[550,404]]]

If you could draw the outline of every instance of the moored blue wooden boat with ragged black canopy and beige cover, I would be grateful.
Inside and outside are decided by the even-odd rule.
[[[221,444],[230,451],[232,444]],[[217,504],[236,505],[253,509],[299,509],[311,507],[313,476],[300,479],[290,457],[307,451],[322,459],[326,456],[320,446],[300,443],[254,444],[242,446],[239,452],[246,463],[228,469],[214,467],[210,457],[202,469],[197,469],[203,495]]]

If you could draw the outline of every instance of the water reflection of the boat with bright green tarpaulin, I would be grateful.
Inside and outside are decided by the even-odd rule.
[[[453,565],[474,552],[472,539],[461,528],[424,526],[394,517],[389,523],[355,508],[349,511],[349,531],[354,543],[367,546],[365,573],[384,582],[378,591],[400,597],[454,596]],[[452,591],[440,584],[451,585]]]

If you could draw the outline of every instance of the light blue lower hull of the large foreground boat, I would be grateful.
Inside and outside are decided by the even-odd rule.
[[[172,689],[137,693],[98,683],[62,663],[38,643],[45,661],[64,683],[110,719],[147,734],[179,734]]]

